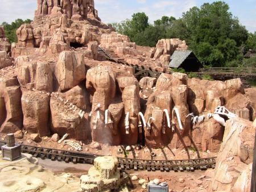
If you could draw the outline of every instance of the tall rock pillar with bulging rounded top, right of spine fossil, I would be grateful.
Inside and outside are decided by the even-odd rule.
[[[93,141],[101,143],[119,143],[119,136],[116,131],[117,124],[104,123],[105,111],[109,108],[111,99],[115,97],[116,88],[112,69],[109,66],[97,66],[96,68],[89,69],[86,75],[86,88],[93,96],[91,116]],[[100,113],[99,117],[98,112]],[[119,122],[118,119],[117,117],[117,122],[115,123]],[[104,131],[106,135],[102,135],[102,131]]]

